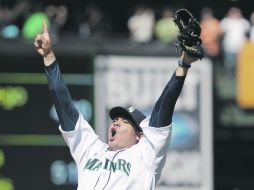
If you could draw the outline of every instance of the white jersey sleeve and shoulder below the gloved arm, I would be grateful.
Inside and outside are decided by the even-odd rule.
[[[161,170],[166,161],[166,154],[171,139],[172,125],[163,127],[149,126],[150,117],[146,118],[141,123],[141,128],[144,132],[137,144],[141,151],[141,157],[145,165],[156,175],[156,181],[159,179]]]

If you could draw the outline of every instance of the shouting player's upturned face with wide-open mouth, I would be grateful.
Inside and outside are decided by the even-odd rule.
[[[129,148],[136,144],[141,137],[142,133],[136,132],[129,120],[118,117],[109,127],[108,145],[111,150]]]

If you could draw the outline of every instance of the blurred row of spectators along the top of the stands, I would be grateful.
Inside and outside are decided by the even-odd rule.
[[[178,35],[178,28],[172,20],[174,12],[175,9],[170,6],[154,10],[145,5],[137,5],[126,20],[126,37],[134,43],[158,41],[172,45]],[[42,20],[46,20],[54,42],[64,32],[71,34],[73,31],[82,40],[107,38],[110,34],[111,37],[116,36],[112,35],[113,20],[116,18],[109,18],[94,4],[87,4],[76,17],[70,18],[69,13],[68,6],[64,4],[43,5],[35,1],[16,1],[11,6],[0,4],[0,37],[33,40],[41,31]],[[237,55],[246,50],[243,48],[246,42],[250,42],[250,45],[254,43],[254,11],[244,17],[241,9],[230,7],[224,17],[218,19],[214,10],[205,7],[194,15],[199,18],[202,27],[201,39],[206,55],[214,62],[223,56],[223,67],[229,75],[234,75]],[[70,19],[73,21],[69,21],[71,24],[66,27]]]

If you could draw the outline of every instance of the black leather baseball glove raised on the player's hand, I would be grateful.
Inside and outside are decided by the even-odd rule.
[[[179,28],[177,49],[187,52],[192,57],[202,59],[204,50],[200,39],[201,27],[198,21],[187,9],[179,9],[173,16],[173,21]]]

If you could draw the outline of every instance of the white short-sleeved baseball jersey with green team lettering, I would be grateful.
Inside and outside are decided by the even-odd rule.
[[[171,125],[149,127],[141,123],[144,137],[130,148],[110,151],[80,115],[75,130],[63,138],[78,168],[78,190],[153,190],[165,164]]]

